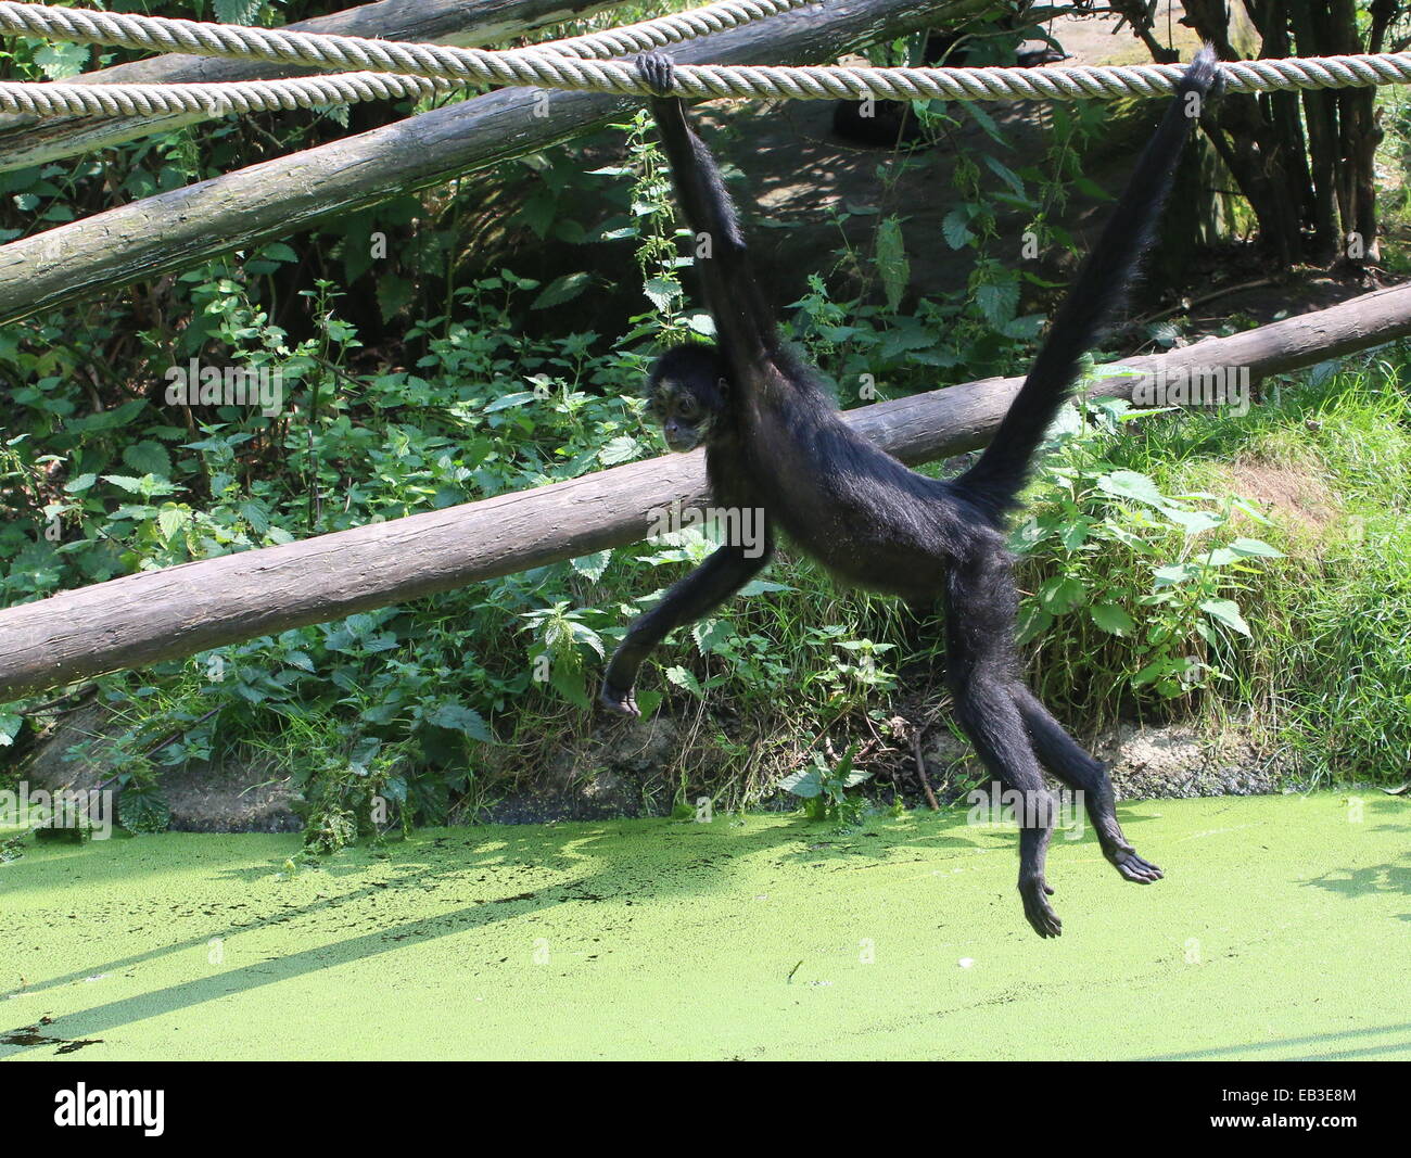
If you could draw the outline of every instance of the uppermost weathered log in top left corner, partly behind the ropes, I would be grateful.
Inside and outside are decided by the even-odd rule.
[[[332,32],[341,37],[449,44],[483,48],[519,32],[566,20],[581,20],[621,0],[378,0],[330,16],[286,25],[292,32]],[[265,80],[303,76],[313,69],[272,61],[230,61],[219,56],[188,56],[168,52],[147,61],[85,72],[73,82],[85,85],[209,85],[222,80]],[[200,113],[165,117],[0,117],[0,172],[27,169],[76,152],[109,148],[171,133],[206,120]]]

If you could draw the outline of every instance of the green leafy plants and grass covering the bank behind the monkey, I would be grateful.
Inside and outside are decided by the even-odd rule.
[[[161,11],[209,17],[199,4]],[[7,76],[62,76],[99,52],[18,42],[0,63]],[[1404,107],[1387,102],[1388,124],[1404,130]],[[341,133],[336,116],[288,114],[274,137],[230,120],[3,173],[0,236],[305,147]],[[947,219],[969,281],[906,300],[903,219],[886,212],[869,248],[844,247],[818,271],[790,322],[844,405],[1020,367],[1043,322],[1022,303],[1053,286],[1016,272],[996,209],[1022,210],[1051,250],[1071,245],[1054,223],[1064,199],[1091,192],[1078,158],[1105,117],[1096,104],[1055,107],[1051,152],[1027,166],[1010,164],[983,109],[927,116],[972,117],[996,141],[959,166]],[[1386,148],[1400,140],[1388,134]],[[919,164],[895,157],[880,181]],[[643,367],[655,343],[708,320],[682,296],[670,195],[643,120],[499,176],[522,196],[494,209],[497,251],[516,240],[635,248],[646,306],[619,333],[559,324],[604,285],[587,262],[555,276],[515,274],[508,260],[477,268],[466,237],[484,189],[459,186],[0,333],[0,379],[14,384],[0,416],[0,601],[659,453],[641,422]],[[581,205],[608,209],[587,220]],[[370,255],[374,234],[391,238],[388,257]],[[1171,344],[1180,330],[1149,336]],[[192,360],[277,381],[282,405],[171,402],[169,371]],[[1278,382],[1243,418],[1075,410],[1015,532],[1046,701],[1085,728],[1235,721],[1295,756],[1307,779],[1400,783],[1411,762],[1408,374],[1407,348],[1383,348]],[[162,773],[193,760],[292,777],[316,851],[474,818],[564,749],[574,774],[594,773],[602,654],[710,550],[708,535],[683,532],[109,676],[97,694],[110,724],[82,748],[126,788],[134,828],[162,827]],[[639,704],[680,721],[680,742],[641,786],[656,811],[700,791],[725,808],[775,801],[786,787],[816,788],[817,815],[855,819],[845,790],[868,772],[865,742],[904,749],[893,743],[904,717],[943,702],[934,625],[838,592],[787,553],[662,654]],[[0,707],[0,753],[23,753],[66,707]]]

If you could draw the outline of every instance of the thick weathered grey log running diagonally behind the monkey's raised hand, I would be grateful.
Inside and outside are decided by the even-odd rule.
[[[686,63],[793,65],[992,0],[831,0],[673,49]],[[288,237],[409,189],[579,135],[641,97],[499,89],[0,245],[0,324]]]

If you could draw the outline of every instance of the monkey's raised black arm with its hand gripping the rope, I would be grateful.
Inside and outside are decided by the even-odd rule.
[[[658,92],[672,87],[672,58],[663,52],[638,56],[638,71]],[[652,116],[672,165],[676,196],[696,236],[693,254],[706,305],[721,331],[727,358],[732,351],[755,354],[776,341],[775,322],[759,292],[735,205],[706,142],[686,120],[676,97],[652,97]]]

